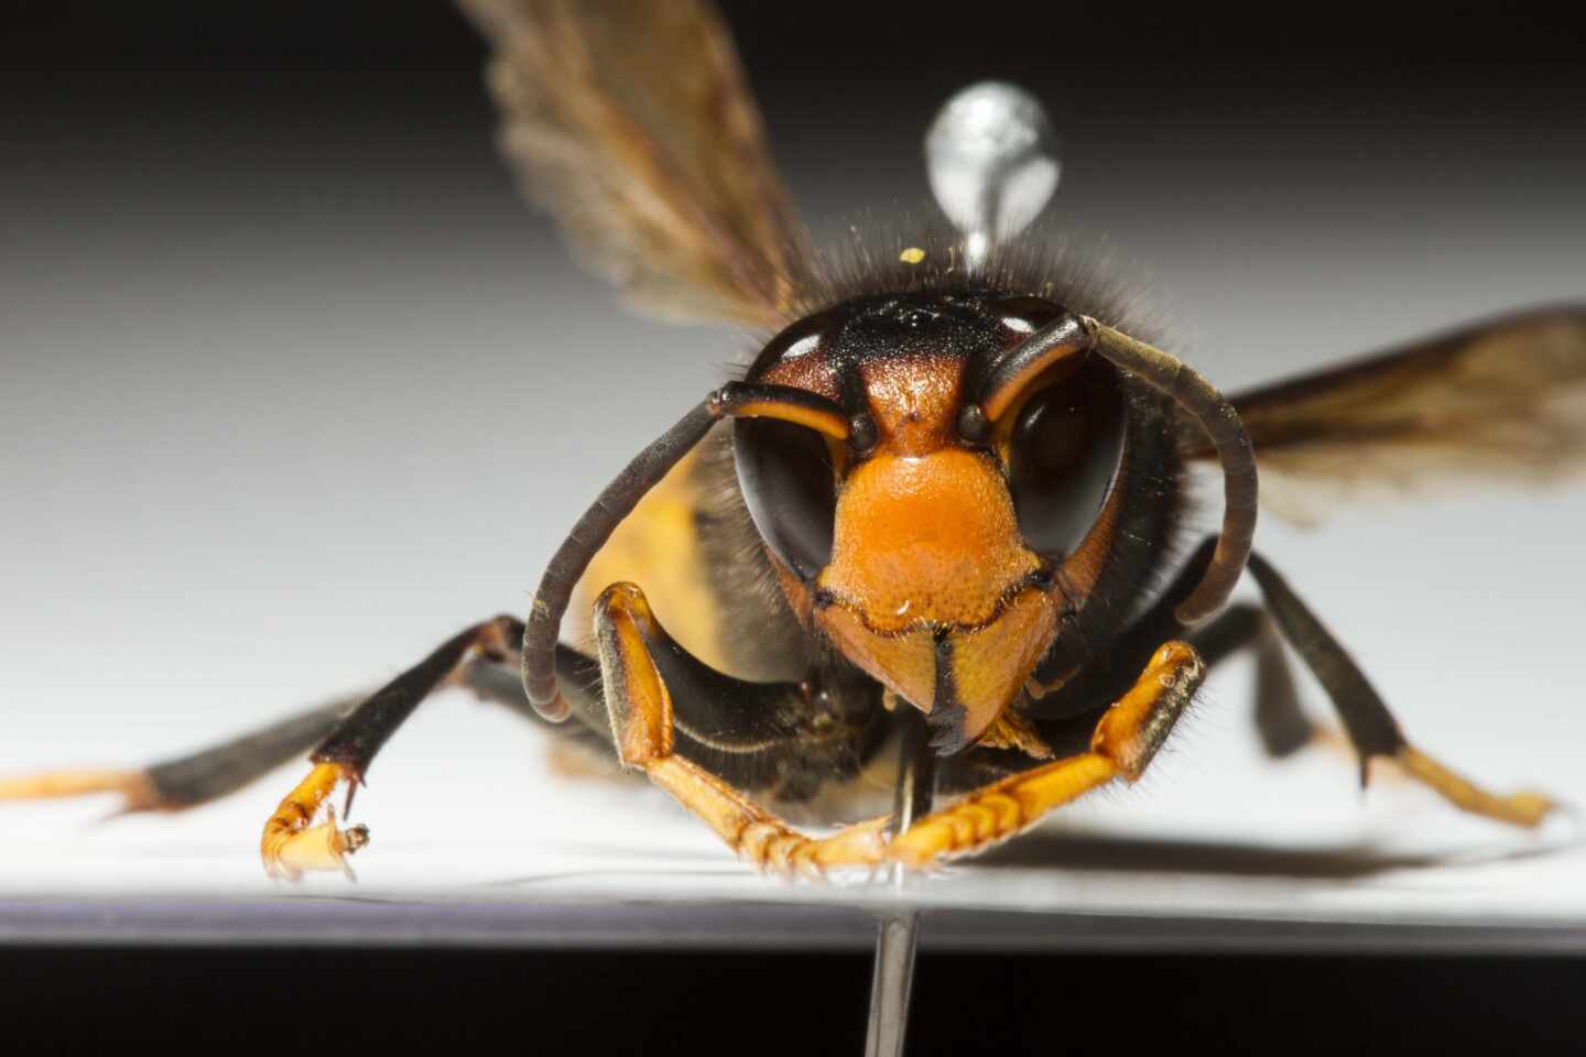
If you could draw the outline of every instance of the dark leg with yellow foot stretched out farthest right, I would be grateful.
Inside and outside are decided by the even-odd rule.
[[[1521,791],[1507,796],[1488,792],[1410,745],[1377,688],[1339,640],[1299,601],[1283,577],[1259,555],[1251,555],[1250,572],[1261,585],[1261,593],[1285,639],[1332,699],[1343,729],[1359,754],[1362,786],[1370,761],[1381,756],[1470,815],[1534,827],[1557,810],[1557,802],[1540,792]]]

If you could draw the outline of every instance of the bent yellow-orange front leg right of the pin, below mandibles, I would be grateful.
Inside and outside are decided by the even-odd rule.
[[[887,859],[918,868],[975,853],[1113,778],[1137,781],[1204,678],[1194,647],[1166,643],[1102,713],[1088,753],[1015,773],[925,816],[891,840]]]

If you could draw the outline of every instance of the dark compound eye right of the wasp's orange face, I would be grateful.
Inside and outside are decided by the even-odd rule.
[[[1018,410],[1009,479],[1032,550],[1061,559],[1096,523],[1123,455],[1124,407],[1112,372],[1086,363]]]

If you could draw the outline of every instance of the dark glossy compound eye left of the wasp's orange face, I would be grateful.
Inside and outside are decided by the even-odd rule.
[[[733,422],[733,461],[749,517],[771,551],[814,582],[831,563],[837,479],[826,439],[777,418]]]

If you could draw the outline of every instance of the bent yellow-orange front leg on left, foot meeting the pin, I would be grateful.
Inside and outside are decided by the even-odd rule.
[[[885,849],[885,827],[891,816],[849,826],[829,837],[806,837],[776,815],[753,803],[736,786],[712,773],[680,750],[685,740],[714,743],[731,751],[736,745],[755,751],[757,742],[780,734],[798,746],[801,737],[788,729],[798,724],[825,726],[828,713],[814,708],[812,693],[798,683],[744,683],[709,669],[666,635],[650,612],[644,593],[631,583],[615,583],[595,602],[595,635],[600,645],[606,708],[611,713],[612,742],[625,767],[649,775],[688,811],[703,819],[749,864],[776,873],[820,875],[828,868],[872,865]],[[672,688],[687,685],[698,696],[688,699],[688,723],[680,724],[672,705]],[[712,700],[720,702],[720,707]],[[736,729],[723,708],[733,707]],[[707,729],[696,713],[706,718]],[[807,719],[812,718],[812,719]],[[752,732],[745,719],[782,724]],[[829,723],[839,723],[828,716]],[[731,732],[731,735],[730,735]],[[815,731],[812,731],[814,734]],[[730,740],[728,740],[730,735]],[[839,742],[844,735],[837,735]],[[855,734],[849,735],[856,737]]]

